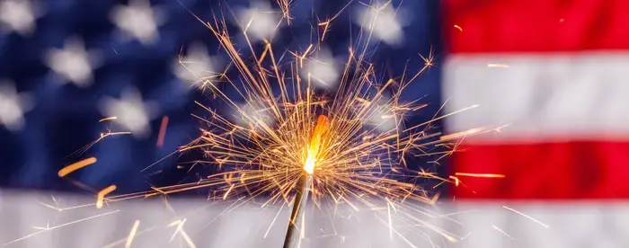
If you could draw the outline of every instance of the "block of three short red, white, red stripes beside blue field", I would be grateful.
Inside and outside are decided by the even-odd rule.
[[[476,199],[626,199],[629,4],[446,1],[447,120],[466,137],[455,194]],[[456,29],[456,27],[460,27]]]

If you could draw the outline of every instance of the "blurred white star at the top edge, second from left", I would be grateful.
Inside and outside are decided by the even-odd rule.
[[[111,10],[111,22],[123,34],[144,45],[159,38],[157,27],[165,21],[165,14],[158,8],[151,8],[148,0],[130,0],[128,5],[118,5]]]

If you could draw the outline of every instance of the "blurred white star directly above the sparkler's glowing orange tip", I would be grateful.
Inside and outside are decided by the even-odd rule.
[[[301,76],[310,79],[318,87],[332,88],[339,84],[339,66],[332,52],[321,49],[315,58],[307,59],[300,71]]]

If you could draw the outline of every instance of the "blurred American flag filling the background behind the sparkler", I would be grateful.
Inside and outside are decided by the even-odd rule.
[[[374,4],[290,3],[290,29],[280,29],[273,43],[287,49],[307,47],[312,21],[340,13],[325,44],[332,57],[347,52],[355,35],[352,30],[361,25],[352,17],[359,14],[359,7]],[[445,201],[439,212],[442,217],[454,215],[454,220],[435,225],[461,237],[454,244],[430,238],[427,242],[415,234],[426,242],[416,245],[629,245],[624,235],[629,231],[625,215],[629,207],[622,201],[629,197],[625,182],[629,83],[622,83],[629,79],[624,67],[629,4],[623,0],[389,4],[397,11],[378,17],[381,24],[375,32],[382,42],[370,59],[376,67],[386,75],[401,75],[409,63],[421,63],[418,54],[437,55],[437,66],[405,92],[409,101],[421,98],[429,104],[406,124],[477,105],[448,117],[444,125],[435,122],[433,129],[444,134],[479,127],[499,130],[465,137],[460,151],[440,164],[430,163],[435,159],[430,156],[411,164],[416,169],[437,168],[441,177],[452,180],[441,197]],[[347,6],[347,11],[341,11]],[[194,101],[207,99],[194,90],[195,79],[226,66],[216,38],[195,15],[212,20],[217,12],[278,8],[275,2],[264,1],[0,0],[0,184],[4,187],[0,219],[11,219],[0,224],[0,242],[14,247],[122,247],[125,242],[116,243],[113,235],[73,238],[90,228],[116,229],[96,224],[66,231],[59,228],[57,235],[21,240],[32,233],[29,228],[36,224],[31,222],[47,226],[47,221],[41,223],[45,214],[24,211],[44,211],[31,199],[48,194],[40,190],[69,191],[75,196],[115,184],[120,192],[135,192],[152,185],[194,181],[207,173],[202,168],[190,172],[177,166],[194,159],[194,154],[168,156],[199,135],[199,120],[190,113],[199,111]],[[261,29],[254,32],[263,36],[266,22],[259,21],[256,25]],[[183,69],[180,61],[194,62],[192,69]],[[99,121],[111,116],[117,119]],[[117,133],[121,135],[93,144],[102,135]],[[62,167],[90,156],[98,157],[95,166],[69,179],[58,176]],[[155,201],[129,206],[135,210],[120,217],[130,222],[120,227],[123,233],[140,216],[168,216]],[[215,208],[207,215],[223,210]],[[268,219],[254,212],[238,210],[232,213],[232,221],[214,227],[242,228],[242,236],[225,233],[208,241],[197,235],[194,243],[277,245],[272,240],[255,241],[253,236],[260,238],[253,235],[257,231],[247,228]],[[77,215],[88,214],[94,215]],[[391,230],[378,229],[382,225],[377,219],[365,218],[363,229],[352,233],[361,233],[361,240],[317,243],[314,239],[305,245],[409,246],[388,244],[381,237],[389,238]],[[67,222],[73,219],[67,217]],[[13,224],[22,227],[7,226]],[[201,230],[205,224],[188,224],[187,228],[198,225]],[[385,235],[365,235],[378,233]],[[153,242],[149,247],[174,245],[156,239],[145,242]]]

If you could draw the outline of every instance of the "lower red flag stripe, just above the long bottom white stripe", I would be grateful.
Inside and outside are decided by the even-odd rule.
[[[453,157],[456,199],[629,199],[629,142],[471,145]]]

